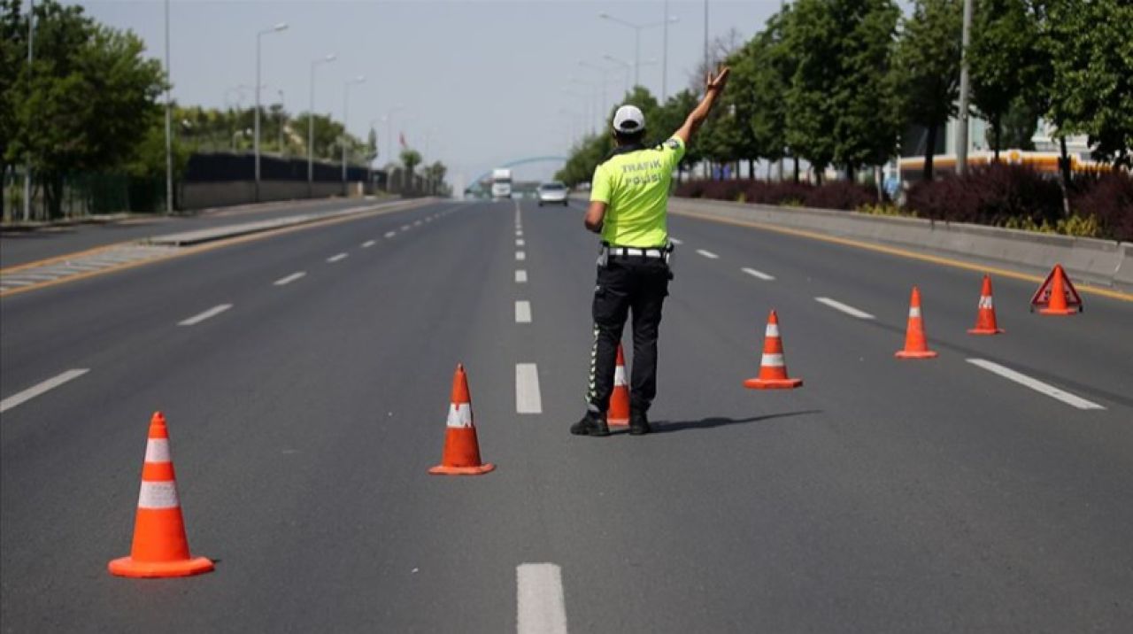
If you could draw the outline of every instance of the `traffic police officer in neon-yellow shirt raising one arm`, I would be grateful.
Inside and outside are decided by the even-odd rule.
[[[649,433],[646,412],[657,394],[657,327],[668,295],[667,203],[673,170],[684,147],[708,117],[727,83],[729,69],[709,75],[705,96],[684,125],[664,143],[646,146],[645,115],[634,105],[614,113],[616,147],[594,170],[586,228],[602,234],[594,290],[594,347],[587,411],[570,428],[577,436],[610,436],[606,409],[614,387],[614,363],[622,328],[633,314],[633,370],[630,378],[630,433]]]

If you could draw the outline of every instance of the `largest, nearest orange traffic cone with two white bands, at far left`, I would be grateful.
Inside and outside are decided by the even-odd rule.
[[[169,451],[169,429],[161,412],[155,412],[150,421],[130,556],[114,559],[108,567],[111,574],[123,577],[184,577],[213,569],[207,558],[189,556]]]

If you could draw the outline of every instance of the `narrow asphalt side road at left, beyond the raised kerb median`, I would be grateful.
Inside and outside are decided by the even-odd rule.
[[[0,269],[150,236],[331,212],[364,202],[358,198],[331,198],[265,203],[208,210],[196,215],[137,215],[113,222],[50,227],[35,231],[6,230],[0,233]]]

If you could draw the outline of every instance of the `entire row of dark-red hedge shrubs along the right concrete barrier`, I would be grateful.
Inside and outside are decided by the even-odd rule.
[[[749,203],[864,210],[877,203],[872,187],[836,181],[821,186],[761,180],[692,180],[678,196]],[[1133,176],[1121,172],[1075,175],[1063,212],[1058,178],[1022,166],[993,164],[969,174],[913,184],[904,212],[951,222],[1028,227],[1051,233],[1133,242]],[[1084,229],[1083,229],[1084,228]]]

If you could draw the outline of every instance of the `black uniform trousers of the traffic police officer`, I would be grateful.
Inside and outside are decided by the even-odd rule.
[[[630,407],[645,413],[657,395],[657,328],[661,307],[668,295],[672,274],[661,257],[611,255],[598,267],[594,289],[594,347],[590,349],[590,377],[587,408],[605,413],[614,389],[614,366],[622,329],[633,315],[633,371],[630,378]]]

